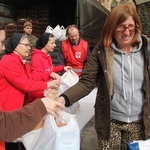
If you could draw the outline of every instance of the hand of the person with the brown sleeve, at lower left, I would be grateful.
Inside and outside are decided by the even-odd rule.
[[[57,102],[49,97],[41,98],[41,101],[46,107],[47,113],[53,115],[55,118],[58,115],[57,112],[60,111],[61,108],[65,107],[62,103]]]

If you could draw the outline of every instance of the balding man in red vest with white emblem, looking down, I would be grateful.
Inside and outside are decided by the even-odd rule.
[[[68,39],[61,43],[58,62],[60,65],[71,66],[80,76],[90,55],[89,44],[80,38],[79,29],[75,24],[67,27],[66,36]]]

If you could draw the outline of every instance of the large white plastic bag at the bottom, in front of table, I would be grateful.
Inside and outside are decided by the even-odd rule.
[[[66,126],[58,127],[54,117],[47,115],[41,129],[22,136],[26,150],[79,150],[80,130],[77,121],[69,113],[66,114],[70,118]]]

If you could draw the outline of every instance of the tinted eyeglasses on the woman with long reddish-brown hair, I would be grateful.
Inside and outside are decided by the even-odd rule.
[[[120,32],[120,33],[124,33],[127,29],[129,30],[129,32],[134,32],[135,31],[135,25],[131,24],[128,27],[126,27],[125,25],[119,25],[116,28],[116,31]]]

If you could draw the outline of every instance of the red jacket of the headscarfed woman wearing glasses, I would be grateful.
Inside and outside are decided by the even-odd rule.
[[[0,110],[12,111],[21,108],[25,94],[44,91],[45,82],[35,82],[31,78],[28,63],[23,63],[14,53],[4,55],[0,61]]]

